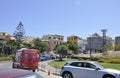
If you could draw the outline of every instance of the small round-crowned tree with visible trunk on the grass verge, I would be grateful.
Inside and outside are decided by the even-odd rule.
[[[62,61],[62,56],[68,54],[68,47],[65,45],[59,45],[57,47],[57,52],[60,56],[59,60]]]

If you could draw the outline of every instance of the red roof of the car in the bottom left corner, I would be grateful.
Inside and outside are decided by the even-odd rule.
[[[22,69],[0,69],[0,78],[13,78],[31,73],[33,72]]]

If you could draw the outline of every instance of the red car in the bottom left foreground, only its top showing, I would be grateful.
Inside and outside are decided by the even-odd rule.
[[[0,69],[0,78],[43,78],[37,73],[23,69]]]

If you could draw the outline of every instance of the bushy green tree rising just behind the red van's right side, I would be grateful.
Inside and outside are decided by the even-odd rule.
[[[39,38],[33,41],[34,48],[39,50],[39,54],[43,53],[45,50],[48,49],[48,44],[46,42],[41,41]]]

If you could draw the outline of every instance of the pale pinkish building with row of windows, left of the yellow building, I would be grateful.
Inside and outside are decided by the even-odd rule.
[[[41,40],[47,42],[49,45],[50,51],[53,51],[55,49],[56,45],[64,43],[64,41],[63,41],[64,36],[49,34],[49,35],[44,35],[41,38]]]

